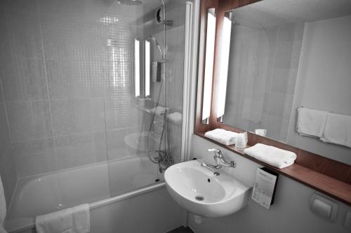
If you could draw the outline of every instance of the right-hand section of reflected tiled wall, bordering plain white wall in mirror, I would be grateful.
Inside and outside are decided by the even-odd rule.
[[[270,38],[270,69],[268,70],[263,105],[263,129],[267,136],[286,142],[298,64],[303,41],[303,23],[267,29]]]

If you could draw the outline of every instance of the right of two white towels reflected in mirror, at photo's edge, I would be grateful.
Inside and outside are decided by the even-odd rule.
[[[329,113],[321,140],[351,148],[351,115]]]

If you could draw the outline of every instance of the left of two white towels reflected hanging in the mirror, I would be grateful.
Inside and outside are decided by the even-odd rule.
[[[321,137],[326,125],[327,111],[310,108],[298,108],[298,122],[296,130],[304,136]]]

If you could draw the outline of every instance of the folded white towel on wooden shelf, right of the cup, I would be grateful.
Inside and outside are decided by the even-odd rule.
[[[279,169],[289,167],[296,160],[296,153],[261,143],[246,148],[244,153]]]

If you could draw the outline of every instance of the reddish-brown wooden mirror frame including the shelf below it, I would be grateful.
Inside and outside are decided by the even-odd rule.
[[[283,174],[289,178],[292,178],[295,181],[303,183],[315,190],[324,192],[326,195],[330,195],[341,202],[351,205],[351,166],[338,162],[336,160],[331,160],[329,158],[310,153],[306,150],[289,146],[286,143],[275,141],[273,139],[268,139],[263,136],[258,136],[248,132],[249,146],[253,146],[256,143],[264,143],[266,145],[275,146],[277,148],[282,148],[284,150],[290,150],[296,153],[297,159],[296,163],[291,167],[285,169],[277,169],[264,162],[254,159],[248,155],[244,155],[239,150],[236,150],[232,146],[225,146],[216,141],[212,141],[204,137],[204,133],[211,129],[227,129],[233,132],[244,132],[242,129],[231,127],[223,123],[217,122],[216,119],[216,83],[218,83],[218,59],[220,52],[220,43],[222,31],[223,31],[223,19],[224,14],[227,10],[233,8],[238,8],[240,6],[245,6],[250,3],[255,3],[258,0],[205,0],[201,1],[201,37],[200,37],[200,50],[201,46],[204,46],[204,36],[206,36],[206,17],[204,14],[207,14],[208,6],[216,7],[216,45],[215,45],[215,59],[213,67],[213,85],[212,85],[212,100],[211,100],[211,116],[209,125],[204,125],[201,123],[201,114],[202,114],[202,93],[203,93],[203,79],[204,79],[204,52],[199,53],[199,77],[198,77],[198,89],[197,89],[197,115],[195,116],[195,128],[194,134],[201,136],[202,138],[216,143],[220,146],[231,150],[238,155],[246,157],[249,160],[252,160],[258,164],[261,164],[265,167]],[[202,42],[202,43],[201,43]]]

